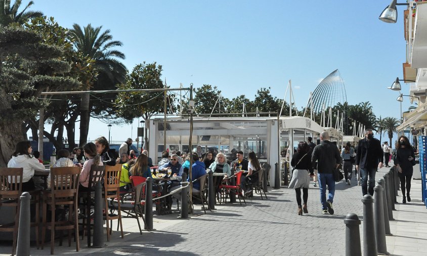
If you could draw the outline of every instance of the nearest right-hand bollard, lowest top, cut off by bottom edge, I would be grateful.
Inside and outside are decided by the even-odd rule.
[[[346,224],[346,256],[360,256],[360,220],[356,214],[348,214],[344,219]]]

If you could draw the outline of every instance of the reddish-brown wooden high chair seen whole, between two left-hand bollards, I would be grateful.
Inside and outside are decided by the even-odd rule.
[[[51,230],[51,254],[54,254],[55,231],[68,230],[68,246],[71,246],[71,232],[75,233],[75,249],[79,251],[78,239],[78,178],[81,167],[51,167],[51,189],[43,193],[43,226],[41,248],[45,245],[46,229]],[[52,208],[51,221],[47,222],[48,205]],[[68,220],[55,220],[58,205],[68,205]],[[61,238],[62,239],[62,238]]]

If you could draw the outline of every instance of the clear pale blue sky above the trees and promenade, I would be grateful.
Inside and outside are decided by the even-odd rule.
[[[28,1],[24,1],[26,4]],[[132,71],[142,62],[162,65],[167,85],[217,86],[224,97],[271,88],[283,98],[291,80],[295,104],[338,69],[349,104],[370,102],[377,117],[400,118],[398,92],[387,89],[406,62],[403,11],[398,21],[378,20],[390,0],[368,1],[58,1],[34,0],[30,10],[74,23],[110,29]],[[409,84],[402,83],[409,94]],[[403,111],[410,106],[404,97]],[[136,138],[138,120],[114,125],[113,141]],[[46,126],[48,127],[48,125]],[[76,129],[78,131],[78,127]],[[107,124],[91,119],[89,138],[108,137]],[[379,137],[378,135],[376,137]],[[78,134],[76,134],[78,140]]]

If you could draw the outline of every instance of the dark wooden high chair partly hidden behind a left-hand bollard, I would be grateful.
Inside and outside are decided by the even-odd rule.
[[[89,186],[88,191],[79,191],[79,197],[84,200],[84,218],[82,220],[82,227],[86,227],[86,230],[83,230],[83,235],[81,239],[84,239],[85,232],[88,232],[88,247],[91,246],[91,205],[92,197],[95,197],[95,185],[104,181],[105,175],[105,165],[95,165],[91,166],[91,172],[89,173]]]

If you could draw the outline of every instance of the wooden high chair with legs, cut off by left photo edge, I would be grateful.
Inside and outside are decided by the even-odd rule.
[[[16,252],[21,208],[22,175],[23,168],[0,168],[0,207],[16,208],[15,221],[0,225],[0,231],[13,232],[12,255]]]

